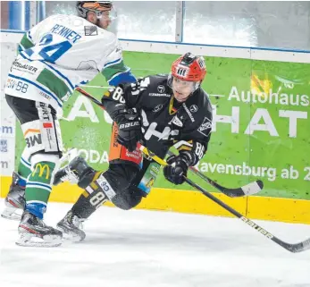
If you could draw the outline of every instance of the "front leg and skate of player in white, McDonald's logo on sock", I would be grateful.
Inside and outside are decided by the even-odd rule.
[[[18,227],[20,239],[17,244],[59,245],[62,232],[43,222],[54,172],[58,169],[63,148],[55,111],[51,106],[28,99],[6,95],[6,100],[21,122],[31,165],[25,188],[25,209]],[[43,241],[33,241],[33,237]]]

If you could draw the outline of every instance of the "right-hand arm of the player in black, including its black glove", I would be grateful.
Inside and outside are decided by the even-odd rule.
[[[174,145],[178,148],[178,156],[169,156],[169,165],[163,168],[163,174],[168,181],[174,184],[184,182],[183,175],[187,175],[189,166],[197,165],[198,161],[205,156],[211,137],[212,113],[207,111],[205,116],[199,117],[196,124],[189,124],[182,132],[183,140]]]

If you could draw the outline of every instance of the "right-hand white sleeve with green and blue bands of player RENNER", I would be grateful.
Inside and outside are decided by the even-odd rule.
[[[125,65],[121,51],[120,41],[113,35],[107,53],[100,63],[101,73],[110,86],[116,87],[121,83],[136,81],[130,68]]]

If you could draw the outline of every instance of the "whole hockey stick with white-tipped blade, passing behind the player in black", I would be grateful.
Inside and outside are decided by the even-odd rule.
[[[84,89],[81,89],[80,87],[78,87],[76,90],[79,91],[83,96],[88,97],[97,106],[100,106],[101,108],[104,109],[104,106],[102,105],[102,103],[99,102],[95,97],[91,96],[87,91],[85,91]],[[172,156],[173,154],[171,151],[168,151],[168,155]],[[222,185],[216,183],[215,181],[212,181],[211,179],[209,179],[207,176],[205,176],[205,174],[200,173],[195,167],[191,166],[189,167],[189,169],[193,173],[197,174],[200,178],[202,178],[203,180],[211,184],[214,188],[216,188],[217,190],[220,190],[223,194],[227,195],[230,198],[238,198],[238,197],[256,194],[260,190],[263,190],[263,187],[264,187],[263,181],[253,181],[251,183],[248,183],[245,186],[240,187],[239,189],[227,189],[223,187]]]

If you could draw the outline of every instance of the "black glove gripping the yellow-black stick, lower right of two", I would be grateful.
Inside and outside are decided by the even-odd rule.
[[[180,151],[179,156],[169,156],[167,164],[163,167],[163,175],[167,181],[174,184],[182,184],[184,182],[183,175],[187,176],[189,166],[192,164],[191,151]]]

